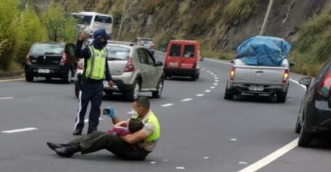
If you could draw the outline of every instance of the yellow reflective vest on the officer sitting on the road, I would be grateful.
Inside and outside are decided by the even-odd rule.
[[[150,136],[148,136],[146,138],[146,141],[152,142],[152,141],[158,140],[160,138],[161,128],[160,128],[159,120],[157,120],[157,117],[154,115],[154,113],[152,111],[150,111],[147,115],[148,115],[148,118],[146,120],[143,120],[143,124],[151,122],[154,125],[154,132],[151,133]],[[132,118],[139,118],[139,116],[134,115],[134,116],[132,116]]]

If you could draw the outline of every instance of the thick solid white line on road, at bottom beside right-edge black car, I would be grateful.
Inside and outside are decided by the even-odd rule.
[[[265,158],[262,158],[261,160],[255,162],[254,164],[250,164],[250,166],[247,166],[245,169],[242,169],[239,172],[252,172],[252,171],[257,171],[257,170],[261,169],[263,166],[266,166],[270,162],[281,157],[288,151],[292,150],[294,147],[297,147],[298,140],[299,140],[299,138],[294,139],[292,142],[281,147],[281,149],[278,149],[277,151],[270,153],[270,155],[265,156]]]

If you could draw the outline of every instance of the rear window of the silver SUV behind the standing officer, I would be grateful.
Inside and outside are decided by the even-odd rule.
[[[128,47],[107,45],[106,48],[108,51],[108,60],[127,60],[130,56],[130,48]]]

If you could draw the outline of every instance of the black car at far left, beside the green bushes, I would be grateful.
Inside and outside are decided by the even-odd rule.
[[[71,83],[76,67],[73,43],[34,43],[26,56],[26,81],[41,76]]]

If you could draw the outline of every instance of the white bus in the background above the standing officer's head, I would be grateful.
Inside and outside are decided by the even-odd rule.
[[[105,29],[107,34],[112,33],[112,16],[98,12],[72,12],[72,17],[78,19],[77,28],[93,34],[97,29]]]

